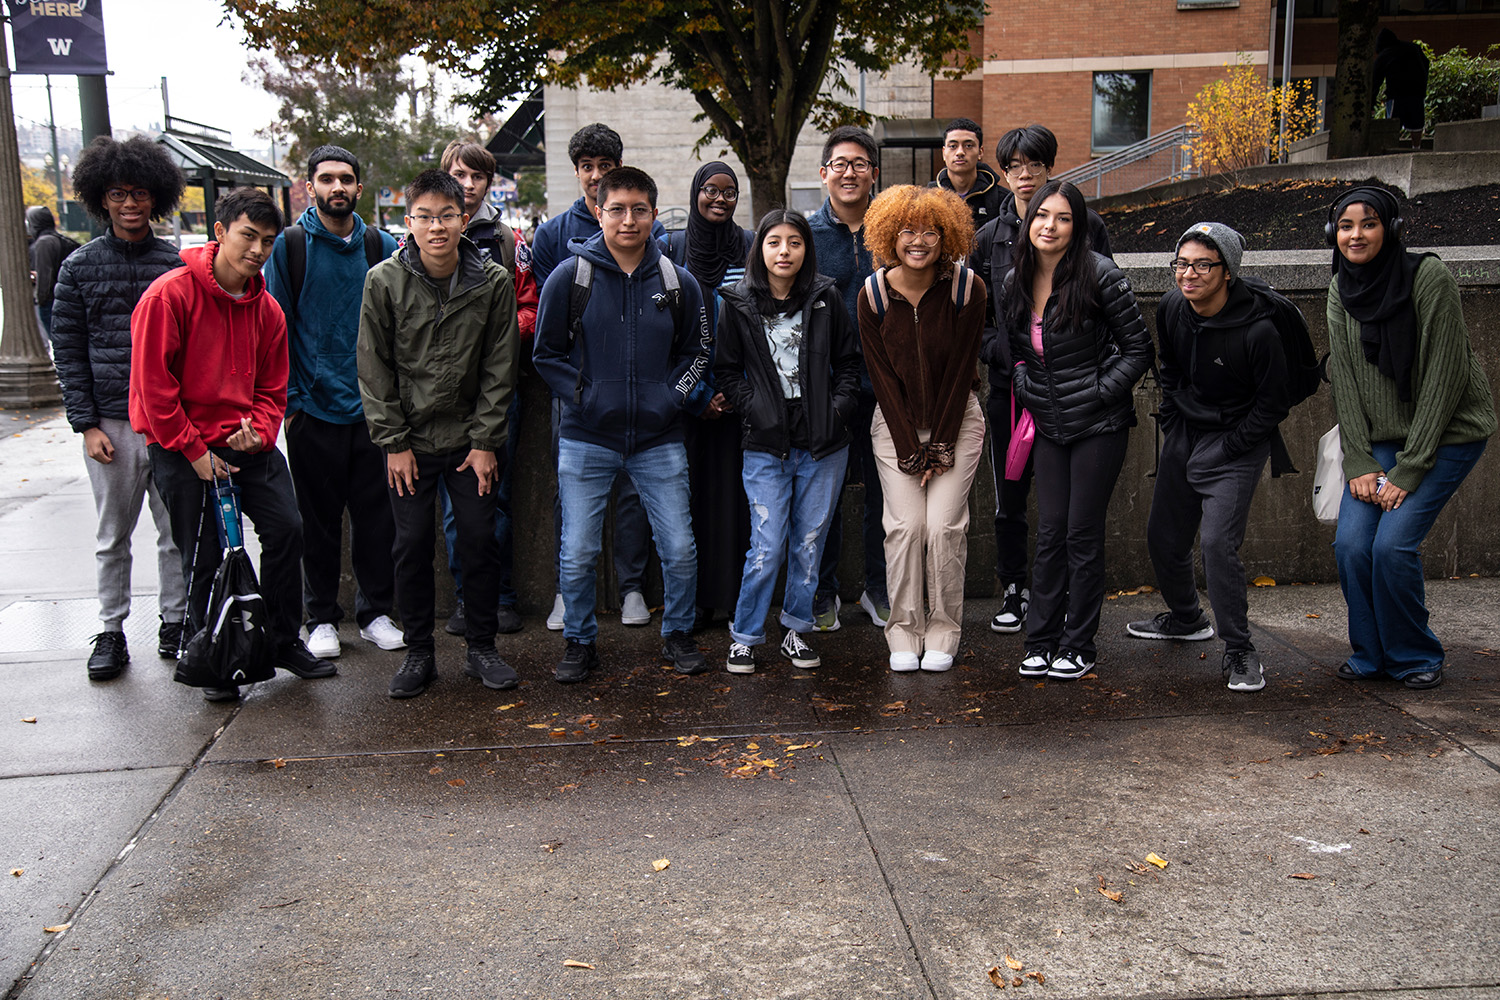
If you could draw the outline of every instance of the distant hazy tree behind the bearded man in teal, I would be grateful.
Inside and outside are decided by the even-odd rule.
[[[368,67],[340,67],[308,55],[252,58],[246,81],[278,99],[278,117],[261,132],[286,147],[296,178],[306,178],[308,154],[324,142],[360,157],[364,195],[358,211],[372,217],[381,186],[402,187],[464,129],[441,115],[394,58]]]

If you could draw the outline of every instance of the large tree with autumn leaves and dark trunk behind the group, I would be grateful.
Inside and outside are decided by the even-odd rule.
[[[870,115],[830,70],[915,60],[960,76],[980,63],[984,0],[224,0],[250,42],[296,58],[372,66],[414,52],[472,76],[465,102],[494,111],[543,76],[562,85],[657,79],[692,94],[706,130],[746,165],[756,205],[782,204],[802,124]]]

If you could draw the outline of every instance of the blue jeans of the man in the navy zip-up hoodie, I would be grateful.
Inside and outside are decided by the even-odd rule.
[[[693,544],[687,450],[678,442],[627,456],[603,445],[562,438],[558,441],[558,505],[562,508],[558,591],[562,594],[562,636],[582,643],[598,637],[594,564],[604,544],[604,505],[621,471],[640,493],[662,558],[666,592],[662,634],[693,628],[698,549]]]

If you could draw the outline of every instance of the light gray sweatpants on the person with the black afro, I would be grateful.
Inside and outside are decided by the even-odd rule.
[[[130,429],[130,421],[104,417],[99,429],[114,445],[114,460],[108,465],[84,457],[88,484],[93,487],[94,510],[99,513],[94,561],[99,573],[99,621],[105,631],[122,631],[130,613],[130,535],[141,519],[141,501],[148,499],[152,520],[156,522],[156,568],[160,574],[158,609],[170,622],[182,621],[188,609],[183,588],[183,559],[172,543],[172,526],[166,507],[152,483],[152,462],[146,454],[146,436]]]

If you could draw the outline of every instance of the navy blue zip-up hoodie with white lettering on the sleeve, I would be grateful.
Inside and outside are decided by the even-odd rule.
[[[562,400],[561,436],[622,454],[682,441],[682,409],[708,375],[712,343],[698,282],[664,258],[656,240],[646,240],[630,274],[620,270],[603,234],[570,249],[573,256],[542,289],[532,348],[537,372]],[[594,264],[594,286],[574,340],[568,298],[580,256]],[[681,330],[662,292],[662,267],[676,267]]]

